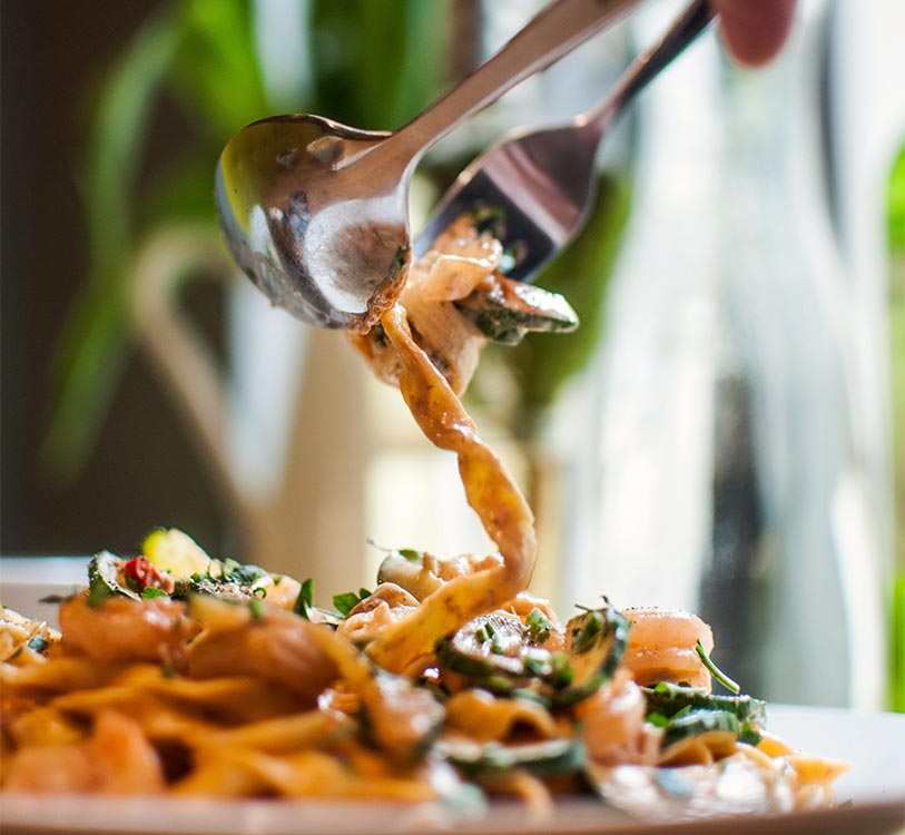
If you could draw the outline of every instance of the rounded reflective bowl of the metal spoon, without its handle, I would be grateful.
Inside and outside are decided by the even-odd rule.
[[[365,161],[388,136],[278,116],[226,146],[216,175],[220,223],[233,256],[275,305],[357,331],[392,301],[409,257],[409,177]]]

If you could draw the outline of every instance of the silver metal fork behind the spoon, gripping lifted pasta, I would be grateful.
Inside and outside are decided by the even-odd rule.
[[[597,191],[597,149],[608,128],[714,17],[693,0],[653,47],[629,65],[591,110],[553,128],[518,130],[469,165],[445,193],[414,243],[414,257],[462,214],[492,222],[512,256],[506,276],[530,282],[584,225]]]

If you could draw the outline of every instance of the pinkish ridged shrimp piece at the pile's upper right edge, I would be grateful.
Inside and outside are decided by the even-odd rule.
[[[710,672],[695,646],[714,649],[714,633],[697,615],[672,609],[626,609],[631,622],[622,666],[639,685],[660,681],[700,687],[710,692]]]

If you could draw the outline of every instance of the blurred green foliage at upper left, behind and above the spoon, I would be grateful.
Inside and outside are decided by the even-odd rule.
[[[307,98],[292,109],[393,128],[442,90],[451,0],[298,2],[313,60]],[[267,89],[256,38],[266,3],[161,0],[101,79],[78,171],[87,275],[52,370],[45,454],[58,475],[77,475],[90,454],[129,356],[135,253],[161,225],[215,224],[213,177],[223,146],[246,124],[285,110]],[[190,138],[154,149],[148,171],[147,137],[169,101]]]

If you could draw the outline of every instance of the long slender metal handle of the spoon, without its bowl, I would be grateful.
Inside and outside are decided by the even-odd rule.
[[[549,67],[639,0],[555,0],[503,48],[385,144],[410,167],[434,143],[509,89]]]

